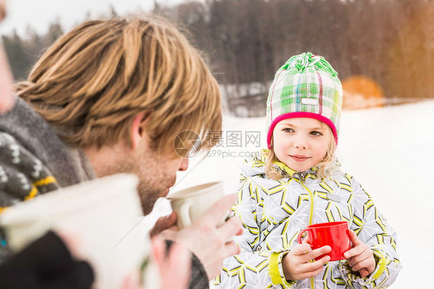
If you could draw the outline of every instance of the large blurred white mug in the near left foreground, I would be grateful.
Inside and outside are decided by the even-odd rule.
[[[18,251],[55,230],[74,241],[74,255],[92,266],[93,288],[140,286],[149,239],[131,230],[142,215],[138,178],[119,174],[95,179],[18,203],[0,215],[10,247]],[[134,281],[133,281],[134,282]]]

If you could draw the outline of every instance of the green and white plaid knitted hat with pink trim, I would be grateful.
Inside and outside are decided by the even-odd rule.
[[[311,118],[332,129],[338,143],[342,85],[324,57],[310,52],[292,56],[277,72],[267,99],[267,145],[277,123]]]

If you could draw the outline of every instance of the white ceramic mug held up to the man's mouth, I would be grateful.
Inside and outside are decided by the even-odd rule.
[[[207,183],[187,188],[168,196],[172,209],[177,213],[177,225],[180,229],[199,219],[217,201],[225,196],[223,182]],[[222,225],[228,215],[218,225]]]

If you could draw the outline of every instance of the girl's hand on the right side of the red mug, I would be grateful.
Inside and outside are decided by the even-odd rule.
[[[353,230],[349,230],[350,240],[353,243],[352,248],[344,253],[348,264],[350,264],[353,271],[358,271],[366,268],[370,273],[375,269],[375,259],[372,250],[368,245],[363,244]]]

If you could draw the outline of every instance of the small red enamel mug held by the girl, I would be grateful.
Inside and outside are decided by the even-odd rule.
[[[327,222],[307,226],[298,233],[298,243],[301,244],[301,236],[307,232],[309,244],[312,250],[322,246],[330,246],[332,251],[328,254],[316,257],[319,260],[325,255],[330,256],[330,261],[345,259],[344,253],[351,248],[350,235],[348,233],[348,222]]]

